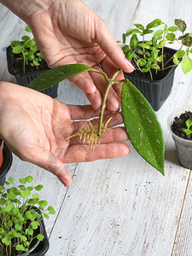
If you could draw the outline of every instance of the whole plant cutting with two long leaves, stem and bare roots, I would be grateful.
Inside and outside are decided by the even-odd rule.
[[[88,125],[84,131],[77,131],[67,139],[79,136],[84,139],[84,143],[89,143],[90,147],[94,149],[96,144],[100,143],[103,133],[108,132],[108,123],[111,118],[108,119],[105,124],[102,121],[108,91],[111,86],[123,84],[121,108],[125,130],[131,140],[131,143],[137,149],[137,152],[143,156],[143,159],[147,160],[150,165],[154,166],[154,168],[164,174],[165,145],[160,123],[153,108],[150,106],[143,94],[137,90],[137,88],[128,79],[115,79],[120,70],[114,73],[112,78],[108,78],[106,73],[87,65],[64,65],[52,68],[46,73],[41,74],[37,79],[34,79],[28,87],[41,91],[55,83],[59,83],[63,79],[68,79],[73,75],[88,71],[101,74],[107,83],[107,89],[102,100],[99,124],[96,129],[90,122],[90,125]]]

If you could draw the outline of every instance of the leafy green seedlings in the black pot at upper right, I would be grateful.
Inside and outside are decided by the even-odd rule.
[[[162,20],[156,19],[146,27],[142,24],[134,24],[137,28],[129,29],[123,34],[120,46],[125,57],[132,61],[137,70],[142,73],[149,73],[151,79],[154,79],[152,72],[154,74],[159,71],[164,72],[165,69],[180,63],[184,74],[189,73],[192,69],[192,60],[189,57],[192,53],[192,33],[184,34],[187,28],[185,21],[175,19],[174,23],[174,26],[168,27]],[[156,27],[158,29],[154,30]],[[148,40],[146,35],[149,35]],[[129,38],[128,44],[126,44],[127,38]],[[164,47],[175,42],[179,44],[179,49],[165,62],[163,58]],[[141,59],[142,61],[140,61]],[[174,65],[171,64],[172,61]]]

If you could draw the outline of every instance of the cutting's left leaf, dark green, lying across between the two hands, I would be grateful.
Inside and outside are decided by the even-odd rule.
[[[90,71],[91,69],[92,67],[84,64],[68,64],[54,67],[39,75],[37,79],[32,80],[28,87],[38,91],[45,90],[64,79],[68,79],[78,73]]]

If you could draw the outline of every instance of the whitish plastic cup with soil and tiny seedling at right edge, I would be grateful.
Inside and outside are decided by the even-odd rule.
[[[177,108],[168,118],[168,127],[181,165],[192,169],[192,106]]]

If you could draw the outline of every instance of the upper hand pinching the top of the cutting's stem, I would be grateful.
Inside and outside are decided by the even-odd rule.
[[[101,69],[110,78],[117,69],[134,67],[108,30],[107,24],[80,0],[0,0],[31,27],[49,67],[86,64]],[[123,73],[117,79],[124,79]],[[105,80],[96,73],[82,73],[70,79],[84,91],[94,109],[102,106]],[[110,89],[106,106],[119,110],[122,85]]]

